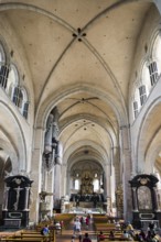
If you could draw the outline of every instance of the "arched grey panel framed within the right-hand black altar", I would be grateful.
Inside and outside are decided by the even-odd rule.
[[[151,190],[147,186],[140,186],[138,188],[138,205],[139,210],[151,210],[152,200],[151,200]]]

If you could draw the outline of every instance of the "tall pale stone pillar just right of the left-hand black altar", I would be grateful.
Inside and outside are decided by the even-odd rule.
[[[34,133],[34,150],[31,162],[31,179],[33,180],[31,191],[33,194],[33,200],[30,207],[30,221],[39,222],[39,194],[41,191],[41,178],[42,178],[42,154],[43,154],[43,138],[44,130],[37,128]]]

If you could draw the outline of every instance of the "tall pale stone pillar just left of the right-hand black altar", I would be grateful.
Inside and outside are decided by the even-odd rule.
[[[125,125],[120,128],[120,175],[122,175],[124,186],[124,217],[127,221],[132,219],[132,196],[129,184],[131,167],[129,125]]]

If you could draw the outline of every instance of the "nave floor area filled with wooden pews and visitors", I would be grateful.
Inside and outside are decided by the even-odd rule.
[[[63,220],[62,220],[63,219]],[[87,222],[88,221],[88,222]],[[57,224],[61,227],[57,227]],[[80,224],[79,230],[75,230],[75,224]],[[152,223],[151,223],[152,224]],[[42,229],[49,228],[49,234],[42,234]],[[76,227],[77,228],[77,227]],[[150,230],[138,230],[130,222],[117,220],[106,215],[56,215],[51,220],[41,222],[33,228],[23,230],[6,230],[0,232],[0,241],[4,242],[85,242],[85,234],[92,242],[99,241],[143,241],[160,242],[161,231],[159,228]],[[150,235],[151,234],[151,235]]]

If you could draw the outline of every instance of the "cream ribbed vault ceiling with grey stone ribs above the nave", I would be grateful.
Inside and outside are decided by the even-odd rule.
[[[119,127],[128,124],[136,45],[152,4],[130,0],[1,1],[0,21],[11,26],[26,57],[31,80],[25,81],[33,85],[35,113],[39,117],[44,103],[56,100],[66,153],[79,154],[88,145],[89,151],[105,151],[106,157],[99,154],[105,161],[111,147],[118,146]]]

